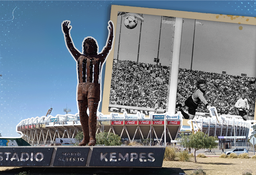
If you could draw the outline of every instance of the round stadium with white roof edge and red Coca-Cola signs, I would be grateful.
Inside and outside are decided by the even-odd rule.
[[[122,141],[136,141],[145,144],[145,140],[154,140],[154,144],[164,144],[164,118],[166,118],[166,142],[179,137],[181,132],[192,133],[192,130],[182,128],[180,112],[173,116],[151,113],[150,117],[137,112],[134,114],[110,115],[99,114],[97,118],[97,133],[111,132],[121,136]],[[251,123],[242,119],[225,116],[195,118],[191,123],[194,131],[202,131],[209,136],[244,136],[248,138]],[[192,127],[193,126],[193,127]],[[74,138],[77,132],[82,131],[79,115],[57,115],[55,117],[36,117],[22,120],[17,125],[17,131],[23,134],[22,138],[31,145],[54,145],[56,138]],[[234,134],[235,133],[235,134]],[[245,140],[244,139],[244,140]],[[220,139],[220,144],[225,144]]]

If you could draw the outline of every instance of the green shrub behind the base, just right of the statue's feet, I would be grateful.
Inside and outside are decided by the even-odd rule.
[[[122,144],[121,137],[114,133],[98,133],[96,134],[96,144],[105,146],[120,146]]]

